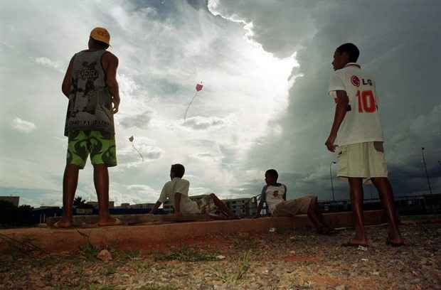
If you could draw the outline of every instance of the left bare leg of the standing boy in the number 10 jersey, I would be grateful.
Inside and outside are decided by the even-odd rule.
[[[355,220],[355,237],[349,244],[366,246],[368,239],[364,231],[363,178],[349,178],[349,188],[351,190],[352,214]]]

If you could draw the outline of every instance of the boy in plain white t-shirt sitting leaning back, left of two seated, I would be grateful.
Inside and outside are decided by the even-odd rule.
[[[170,169],[171,181],[167,182],[161,190],[161,195],[154,205],[151,213],[170,200],[174,208],[175,215],[182,214],[209,214],[213,210],[219,210],[227,218],[236,218],[234,213],[214,194],[204,195],[199,200],[191,200],[188,198],[188,188],[190,183],[183,179],[185,168],[182,164],[173,164]]]

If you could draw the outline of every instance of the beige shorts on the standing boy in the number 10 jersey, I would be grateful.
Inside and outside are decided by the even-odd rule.
[[[337,176],[363,178],[365,182],[373,177],[388,177],[383,142],[349,144],[337,150]]]

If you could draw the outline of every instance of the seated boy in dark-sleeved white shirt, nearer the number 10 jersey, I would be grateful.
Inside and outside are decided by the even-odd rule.
[[[322,213],[317,206],[317,196],[306,195],[294,200],[287,199],[287,187],[277,183],[279,174],[275,169],[269,169],[265,173],[266,186],[262,188],[260,203],[257,206],[257,217],[260,216],[263,203],[266,202],[268,211],[275,217],[294,217],[294,215],[306,214],[311,220],[317,232],[328,234],[331,229],[324,224]]]

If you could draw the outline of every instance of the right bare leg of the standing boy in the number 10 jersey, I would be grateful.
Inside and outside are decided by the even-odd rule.
[[[392,186],[390,186],[387,177],[371,178],[373,185],[377,188],[378,194],[381,198],[383,208],[386,210],[389,220],[389,239],[390,242],[397,245],[403,244],[403,239],[398,231],[398,226],[395,218],[395,204],[393,202]]]

